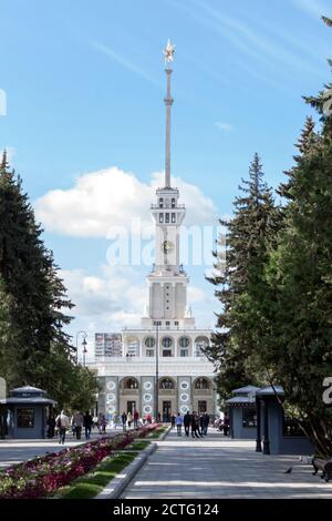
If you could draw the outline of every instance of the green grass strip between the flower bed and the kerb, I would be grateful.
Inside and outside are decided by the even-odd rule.
[[[122,451],[105,458],[93,473],[82,476],[56,492],[58,499],[93,499],[106,484],[137,456],[137,452]]]

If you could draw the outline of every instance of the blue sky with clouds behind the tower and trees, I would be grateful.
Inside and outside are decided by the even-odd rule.
[[[291,166],[311,113],[301,96],[330,79],[332,31],[323,13],[332,16],[328,0],[1,0],[0,150],[9,149],[77,303],[71,333],[117,329],[139,315],[148,269],[107,267],[103,226],[117,217],[91,208],[110,201],[124,215],[141,215],[139,204],[129,208],[129,183],[148,211],[152,174],[164,167],[167,39],[176,45],[173,174],[188,218],[207,223],[231,212],[256,151],[273,186]],[[112,182],[103,184],[98,173],[111,167]],[[94,182],[110,198],[105,190],[105,201],[93,197]],[[53,201],[56,190],[65,208]],[[94,218],[100,231],[91,233],[84,223]],[[193,307],[210,326],[218,306],[205,267],[189,268]]]

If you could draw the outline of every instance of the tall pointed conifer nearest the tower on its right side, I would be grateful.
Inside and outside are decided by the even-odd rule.
[[[249,380],[256,384],[263,378],[260,369],[253,369],[255,340],[248,334],[248,319],[241,320],[241,316],[245,316],[248,307],[248,285],[260,284],[261,280],[267,237],[272,241],[279,223],[279,213],[271,190],[263,181],[258,154],[255,154],[250,164],[249,180],[242,180],[239,190],[243,195],[235,201],[234,218],[220,222],[227,227],[226,265],[222,249],[215,252],[216,275],[209,278],[218,287],[215,295],[222,309],[217,321],[219,330],[212,335],[211,346],[206,354],[216,365],[218,391],[224,398],[235,387],[246,385]],[[220,241],[219,246],[222,246]]]

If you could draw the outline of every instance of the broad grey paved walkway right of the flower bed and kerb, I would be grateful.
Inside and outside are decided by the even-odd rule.
[[[123,498],[329,498],[332,482],[312,476],[297,456],[263,456],[255,442],[211,431],[204,439],[170,432]],[[292,472],[283,472],[292,467]]]

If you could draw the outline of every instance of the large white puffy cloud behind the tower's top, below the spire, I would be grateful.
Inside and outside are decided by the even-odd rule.
[[[155,190],[163,186],[164,174],[152,174],[151,183],[141,182],[133,173],[117,166],[82,174],[73,187],[52,190],[35,201],[37,218],[44,228],[60,235],[106,237],[110,231],[128,232],[139,218],[143,229],[152,229],[151,202]],[[186,225],[211,224],[217,210],[197,186],[173,177],[187,207]]]

